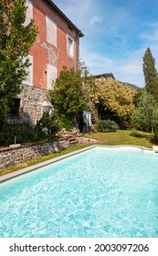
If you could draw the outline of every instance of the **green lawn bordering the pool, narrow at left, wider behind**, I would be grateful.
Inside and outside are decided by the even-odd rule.
[[[152,133],[144,133],[144,132],[140,132],[140,131],[119,130],[115,133],[86,133],[85,136],[94,138],[94,139],[99,139],[102,141],[100,143],[97,142],[97,143],[93,143],[93,144],[105,144],[105,145],[132,144],[132,145],[142,145],[142,146],[149,147],[149,148],[152,148],[153,145],[156,144]],[[73,146],[68,147],[67,149],[65,149],[61,152],[58,152],[58,153],[39,156],[35,159],[27,161],[26,163],[17,164],[17,165],[13,165],[13,166],[9,166],[9,167],[0,169],[0,176],[4,176],[6,174],[15,172],[15,171],[25,168],[27,166],[37,165],[38,163],[42,163],[44,161],[53,159],[60,155],[66,155],[75,150],[84,148],[88,145],[90,145],[90,144],[73,145]]]

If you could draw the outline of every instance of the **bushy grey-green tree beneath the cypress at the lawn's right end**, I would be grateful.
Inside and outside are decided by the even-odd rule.
[[[138,91],[136,109],[132,114],[132,126],[145,132],[153,132],[157,120],[158,106],[153,95],[145,89]]]

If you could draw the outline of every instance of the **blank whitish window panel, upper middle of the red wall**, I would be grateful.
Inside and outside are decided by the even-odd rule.
[[[57,47],[57,24],[46,16],[47,42]]]

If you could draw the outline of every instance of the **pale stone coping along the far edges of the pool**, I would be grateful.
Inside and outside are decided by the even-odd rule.
[[[79,149],[79,150],[76,150],[74,152],[71,152],[71,153],[68,153],[66,155],[60,155],[60,156],[57,156],[53,159],[49,159],[47,161],[44,161],[44,162],[41,162],[37,165],[31,165],[31,166],[28,166],[26,168],[23,168],[23,169],[20,169],[20,170],[17,170],[16,172],[13,172],[13,173],[10,173],[10,174],[7,174],[7,175],[4,175],[4,176],[0,176],[0,184],[9,180],[9,179],[12,179],[16,176],[22,176],[22,175],[25,175],[26,173],[29,173],[29,172],[32,172],[32,171],[35,171],[36,169],[40,168],[40,167],[44,167],[46,165],[51,165],[53,163],[56,163],[62,159],[65,159],[65,158],[68,158],[69,156],[72,156],[72,155],[78,155],[79,153],[82,153],[84,151],[88,151],[92,148],[95,148],[95,147],[109,147],[109,148],[117,148],[117,147],[134,147],[134,148],[140,148],[142,150],[147,150],[147,151],[152,151],[153,152],[153,149],[152,148],[148,148],[148,147],[144,147],[144,146],[141,146],[141,145],[130,145],[130,144],[119,144],[119,145],[100,145],[100,144],[94,144],[94,145],[90,145],[90,146],[87,146],[85,148],[82,148],[82,149]]]

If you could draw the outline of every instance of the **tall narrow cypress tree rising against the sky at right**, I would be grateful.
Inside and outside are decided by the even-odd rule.
[[[158,76],[155,69],[155,59],[150,48],[147,48],[143,56],[143,75],[146,91],[152,93],[158,101]]]

